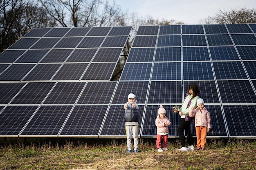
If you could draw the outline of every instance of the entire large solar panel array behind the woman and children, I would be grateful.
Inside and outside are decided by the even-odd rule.
[[[126,137],[124,103],[139,103],[139,137],[155,137],[159,105],[178,137],[190,83],[211,115],[208,138],[256,137],[256,24],[33,29],[0,54],[0,137]],[[191,123],[195,136],[194,122]]]

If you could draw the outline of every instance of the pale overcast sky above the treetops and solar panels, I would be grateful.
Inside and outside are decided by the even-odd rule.
[[[115,0],[121,9],[155,19],[176,20],[185,24],[200,24],[200,19],[214,16],[221,9],[256,9],[255,0]]]

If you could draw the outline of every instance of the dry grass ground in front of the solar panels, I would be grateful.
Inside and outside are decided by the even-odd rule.
[[[126,153],[124,141],[103,144],[52,141],[8,144],[0,149],[0,169],[17,170],[254,170],[256,142],[209,140],[207,150],[177,152],[178,140],[169,140],[168,151],[157,152],[155,139],[139,141],[138,153]]]

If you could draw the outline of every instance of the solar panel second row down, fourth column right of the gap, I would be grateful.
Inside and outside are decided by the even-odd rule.
[[[209,46],[233,45],[229,34],[206,35]]]

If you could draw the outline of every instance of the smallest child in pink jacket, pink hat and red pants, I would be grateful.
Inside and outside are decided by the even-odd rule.
[[[171,126],[171,122],[165,116],[165,109],[163,106],[158,108],[158,116],[155,119],[155,126],[157,126],[157,151],[163,152],[168,150],[167,148],[167,138],[168,138],[168,127]],[[163,139],[163,149],[161,149],[161,141]]]

